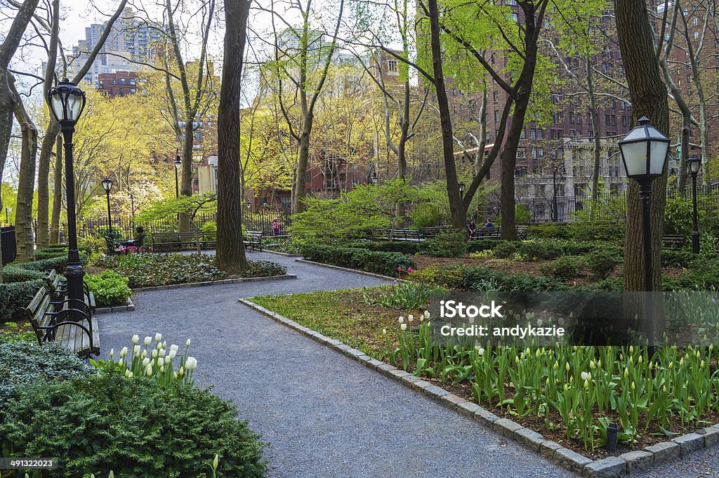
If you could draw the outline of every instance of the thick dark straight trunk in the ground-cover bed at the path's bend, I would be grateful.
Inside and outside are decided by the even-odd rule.
[[[252,0],[225,3],[224,62],[217,114],[217,267],[247,269],[242,245],[242,186],[239,171],[239,110],[247,17]]]

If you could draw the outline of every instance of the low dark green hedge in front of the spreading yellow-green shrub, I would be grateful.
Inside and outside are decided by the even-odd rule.
[[[302,248],[302,255],[305,259],[314,262],[390,276],[397,275],[398,267],[402,267],[404,270],[409,267],[417,267],[415,262],[405,254],[377,252],[354,247],[306,245]]]

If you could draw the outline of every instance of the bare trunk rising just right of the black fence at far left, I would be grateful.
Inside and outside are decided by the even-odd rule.
[[[13,93],[19,97],[17,90]],[[35,244],[32,241],[32,196],[35,190],[37,128],[25,111],[22,101],[17,101],[15,104],[15,119],[22,130],[20,170],[17,179],[17,211],[15,213],[16,260],[17,262],[29,262],[35,259]]]

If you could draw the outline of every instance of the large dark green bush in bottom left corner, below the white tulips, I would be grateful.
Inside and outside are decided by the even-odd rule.
[[[14,456],[62,456],[56,477],[112,469],[122,477],[209,477],[215,454],[218,476],[266,471],[262,444],[234,405],[196,387],[110,372],[34,380],[16,395],[1,414],[0,436]]]

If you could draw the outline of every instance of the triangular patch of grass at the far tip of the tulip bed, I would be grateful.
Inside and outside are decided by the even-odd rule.
[[[391,286],[390,286],[391,287]],[[369,293],[379,293],[390,287],[367,288]],[[363,289],[319,290],[291,295],[263,295],[252,302],[270,311],[291,318],[333,339],[359,349],[377,359],[386,358],[383,353],[387,343],[383,329],[387,329],[390,344],[397,347],[398,322],[401,315],[411,313],[398,308],[366,305],[362,302]]]

